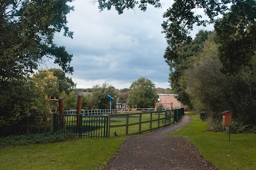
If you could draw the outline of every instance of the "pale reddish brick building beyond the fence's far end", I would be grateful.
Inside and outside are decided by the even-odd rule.
[[[178,94],[157,94],[159,96],[160,101],[158,103],[173,103],[172,108],[180,108],[180,107],[186,107],[184,104],[179,102],[175,96]],[[170,104],[163,104],[163,108],[170,108]]]

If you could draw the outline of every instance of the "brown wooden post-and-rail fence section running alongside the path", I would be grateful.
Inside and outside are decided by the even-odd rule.
[[[184,111],[178,110],[108,115],[107,136],[130,135],[168,126],[177,122],[184,114]]]

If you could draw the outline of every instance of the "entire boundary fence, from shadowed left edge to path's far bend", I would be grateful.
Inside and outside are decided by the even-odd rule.
[[[30,115],[23,118],[20,124],[0,128],[0,134],[7,136],[14,133],[44,133],[53,130],[72,133],[77,137],[129,135],[178,122],[184,114],[184,109],[156,112],[152,109],[138,109],[130,114],[127,110],[126,114],[111,111],[111,115],[109,112],[109,109],[82,110],[81,115],[77,115],[76,110],[68,110],[64,111],[65,114]]]

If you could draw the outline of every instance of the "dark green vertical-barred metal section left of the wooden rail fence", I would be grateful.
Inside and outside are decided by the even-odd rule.
[[[54,114],[54,131],[77,137],[107,137],[108,117],[104,115]]]

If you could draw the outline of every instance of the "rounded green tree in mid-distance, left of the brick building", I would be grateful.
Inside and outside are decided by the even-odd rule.
[[[132,82],[127,104],[137,105],[137,108],[152,108],[157,99],[155,84],[150,79],[141,77]]]

